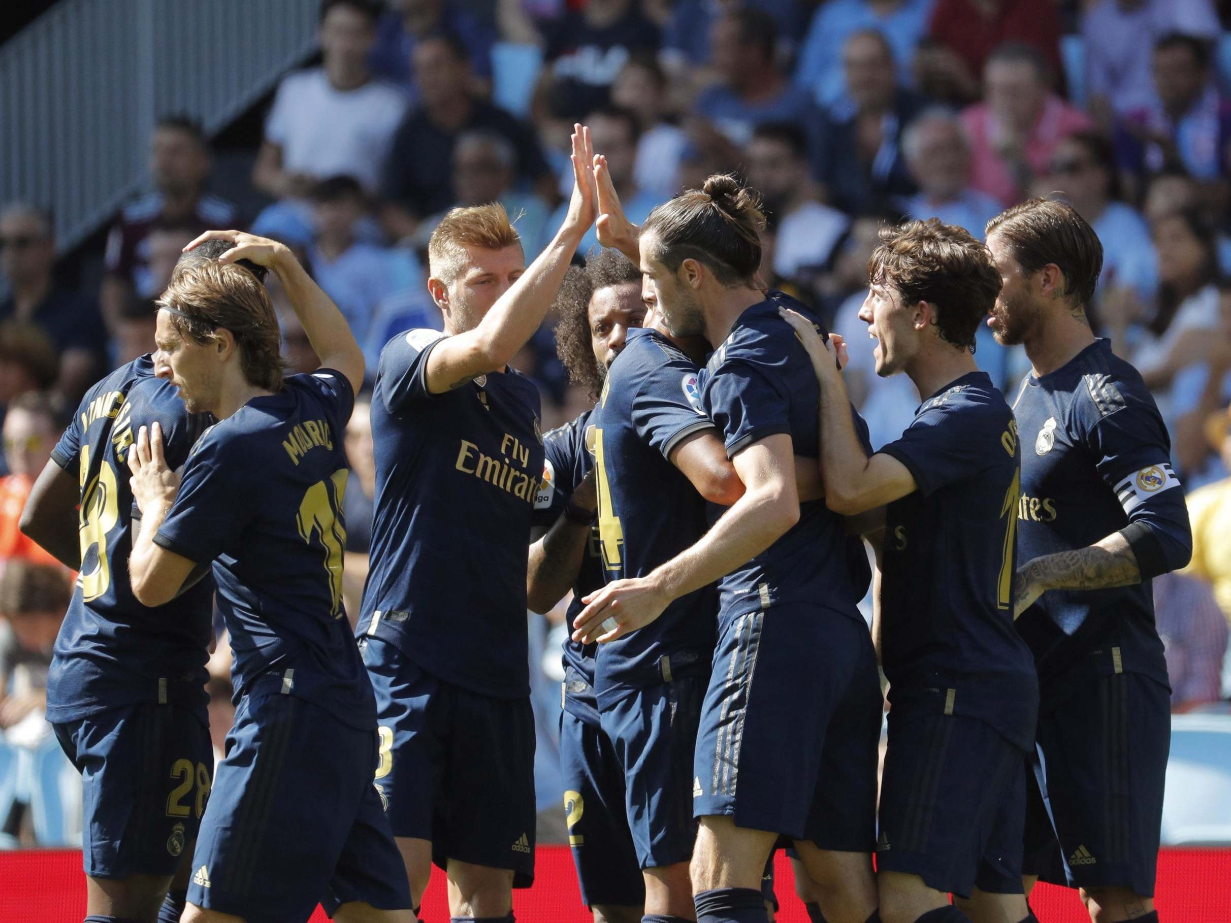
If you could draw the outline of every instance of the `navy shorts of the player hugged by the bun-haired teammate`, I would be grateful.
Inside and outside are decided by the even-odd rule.
[[[624,769],[628,826],[643,869],[692,858],[693,756],[707,673],[601,695],[603,732]]]

